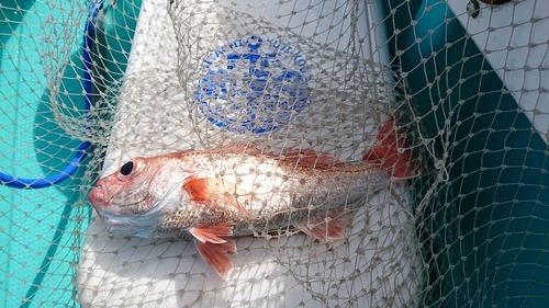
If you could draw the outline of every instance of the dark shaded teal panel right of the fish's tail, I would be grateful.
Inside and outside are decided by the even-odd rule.
[[[399,10],[415,5],[417,13],[400,24],[417,24],[392,38],[395,50],[405,50],[395,59],[449,171],[448,194],[424,216],[438,263],[432,282],[439,290],[428,303],[548,307],[547,145],[445,1],[410,3]]]

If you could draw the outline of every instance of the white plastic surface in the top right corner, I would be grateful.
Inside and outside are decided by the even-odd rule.
[[[515,0],[498,5],[447,0],[467,32],[547,142],[549,133],[549,1]]]

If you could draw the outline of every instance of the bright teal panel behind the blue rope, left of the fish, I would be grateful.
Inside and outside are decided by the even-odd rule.
[[[123,76],[141,7],[141,2],[116,2],[119,8],[105,4],[101,28],[97,28],[104,48],[94,50],[96,57],[102,59],[94,73],[105,76],[103,89]],[[57,124],[52,93],[46,89],[52,80],[46,76],[52,69],[63,73],[57,103],[69,106],[67,115],[81,115],[81,42],[89,4],[2,1],[0,98],[4,102],[0,106],[0,172],[21,178],[55,174],[81,142]],[[78,19],[68,14],[77,14]],[[52,19],[46,21],[48,16]],[[71,23],[75,26],[69,26]],[[60,35],[66,31],[67,37]],[[55,41],[59,48],[48,49],[43,37],[55,34],[60,35]],[[76,41],[69,39],[75,35]],[[59,59],[70,59],[74,65],[61,67],[44,57],[45,52],[51,57],[56,50]],[[83,179],[87,168],[85,161],[67,181],[47,189],[0,185],[0,307],[78,306],[75,276],[91,213],[86,198],[91,179]]]

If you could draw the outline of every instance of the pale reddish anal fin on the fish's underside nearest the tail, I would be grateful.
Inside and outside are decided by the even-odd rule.
[[[298,225],[298,228],[315,239],[334,242],[345,233],[345,215],[332,218],[330,215],[321,216]]]

